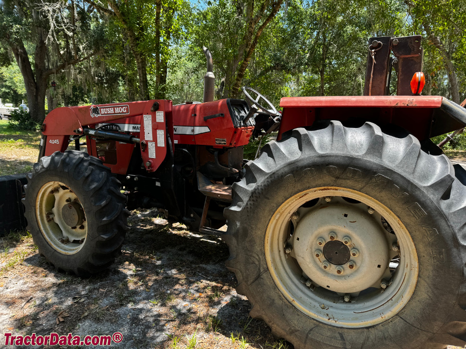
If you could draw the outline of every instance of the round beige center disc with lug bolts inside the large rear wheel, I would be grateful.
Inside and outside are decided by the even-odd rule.
[[[293,250],[314,284],[340,293],[380,287],[390,261],[381,225],[350,205],[309,210],[293,234]]]

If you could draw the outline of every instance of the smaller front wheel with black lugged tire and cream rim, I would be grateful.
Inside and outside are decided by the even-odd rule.
[[[108,167],[83,152],[55,152],[34,164],[23,202],[39,254],[82,277],[110,266],[129,230],[118,185]]]

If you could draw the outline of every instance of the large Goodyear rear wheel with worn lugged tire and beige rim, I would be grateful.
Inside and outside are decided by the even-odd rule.
[[[225,209],[251,317],[296,349],[464,346],[466,172],[432,152],[338,121],[266,144]]]

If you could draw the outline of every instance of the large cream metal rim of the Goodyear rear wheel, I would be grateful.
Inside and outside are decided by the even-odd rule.
[[[348,219],[348,224],[341,226],[326,223],[325,214],[320,213],[334,217],[335,212],[345,207],[349,217],[338,219],[339,222]],[[363,221],[360,230],[348,228],[358,224],[353,223],[357,221],[355,214]],[[319,227],[313,229],[310,222]],[[383,246],[375,254],[364,244],[367,227],[372,227],[370,234],[377,236],[376,241],[385,241],[385,245],[377,244]],[[329,241],[340,242],[333,242],[325,251],[323,247],[329,246]],[[309,254],[303,253],[306,250]],[[343,256],[332,259],[332,255],[337,255],[335,252]],[[362,270],[374,262],[377,258],[374,255],[384,253],[388,263],[384,265],[383,260],[387,259],[379,259],[382,260],[377,262],[379,273],[372,270],[376,271],[375,276],[373,272],[358,275],[359,268]],[[302,313],[334,326],[361,328],[386,321],[406,305],[416,288],[416,248],[404,224],[379,201],[346,188],[314,188],[286,200],[267,226],[265,256],[272,279],[283,296]],[[372,279],[361,276],[364,274]],[[324,284],[323,280],[333,283]],[[364,286],[368,284],[371,286]]]

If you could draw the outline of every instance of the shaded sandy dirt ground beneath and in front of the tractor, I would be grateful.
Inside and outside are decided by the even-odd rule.
[[[112,348],[292,348],[249,317],[219,238],[169,223],[154,210],[133,211],[129,223],[116,263],[86,280],[55,271],[26,232],[4,236],[0,332],[122,333]]]

